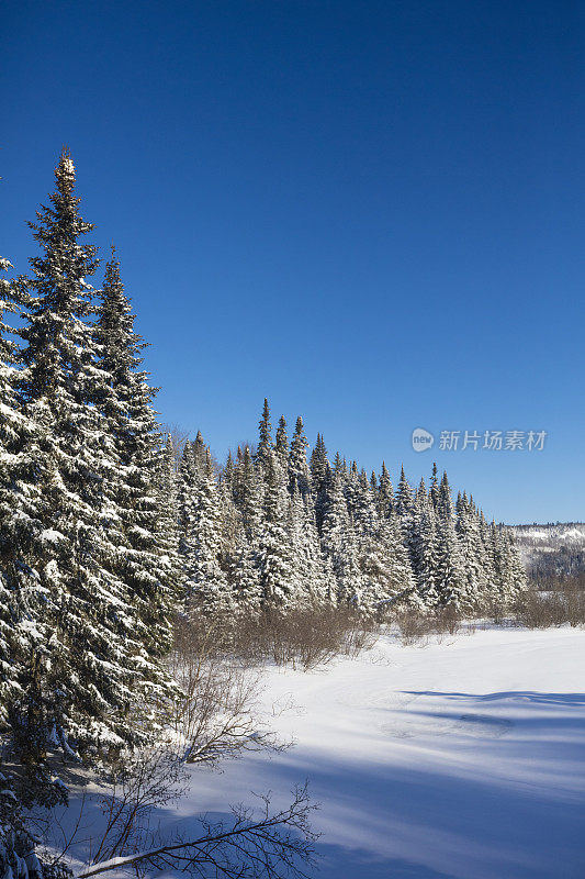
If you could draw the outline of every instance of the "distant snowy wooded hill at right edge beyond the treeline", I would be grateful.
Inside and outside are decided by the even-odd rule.
[[[513,525],[528,574],[537,580],[585,576],[585,523]]]

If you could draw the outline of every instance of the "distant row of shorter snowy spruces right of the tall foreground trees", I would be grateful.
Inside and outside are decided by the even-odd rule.
[[[368,476],[324,439],[307,457],[301,418],[291,441],[268,401],[256,450],[238,447],[216,467],[201,433],[184,445],[171,493],[179,523],[184,597],[227,615],[271,608],[392,607],[473,613],[505,605],[525,587],[508,530],[488,523],[473,498],[453,504],[436,465],[427,489],[382,465]],[[173,449],[167,448],[169,461]],[[171,472],[169,466],[169,472]]]

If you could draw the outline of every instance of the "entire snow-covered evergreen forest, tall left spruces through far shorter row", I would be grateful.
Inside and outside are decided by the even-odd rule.
[[[453,505],[446,476],[413,491],[402,474],[394,492],[384,466],[369,478],[330,464],[320,436],[307,459],[301,419],[290,443],[282,419],[272,438],[268,404],[254,454],[218,470],[198,435],[177,467],[114,251],[100,288],[88,281],[98,252],[67,151],[55,182],[30,224],[30,274],[0,288],[0,874],[12,879],[57,870],[23,817],[67,799],[53,755],[108,766],[168,722],[177,611],[472,612],[524,586],[509,533],[466,494]]]

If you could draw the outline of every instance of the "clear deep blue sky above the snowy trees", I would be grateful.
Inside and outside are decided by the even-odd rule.
[[[168,422],[305,419],[508,522],[585,519],[582,2],[7,2],[2,255],[63,143]],[[544,430],[542,452],[410,433]]]

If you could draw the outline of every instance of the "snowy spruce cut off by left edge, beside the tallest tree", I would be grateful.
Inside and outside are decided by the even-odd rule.
[[[0,271],[9,268],[10,263],[0,259]],[[31,657],[44,653],[47,636],[42,619],[45,594],[31,567],[41,523],[35,518],[36,474],[25,447],[36,439],[36,429],[22,412],[18,393],[21,352],[3,322],[4,312],[20,311],[25,302],[22,279],[9,282],[0,278],[0,748],[11,761],[34,755],[44,743],[38,736],[42,742],[23,748],[22,730],[13,728],[30,679]],[[34,714],[32,699],[27,706]],[[0,788],[0,875],[48,879],[55,871],[35,853],[36,841],[23,805],[64,803],[65,787],[55,782],[45,765],[27,760],[24,771],[14,774],[2,767]]]

